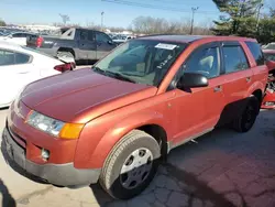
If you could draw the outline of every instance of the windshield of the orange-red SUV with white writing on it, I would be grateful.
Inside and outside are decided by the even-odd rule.
[[[186,44],[148,40],[129,41],[95,67],[117,73],[135,83],[158,86]]]

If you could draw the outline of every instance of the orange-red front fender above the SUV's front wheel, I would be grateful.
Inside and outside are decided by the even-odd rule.
[[[167,102],[173,97],[174,92],[154,96],[87,123],[78,140],[75,167],[102,167],[116,143],[128,132],[142,126],[157,124],[166,131],[168,139],[172,138],[175,124]]]

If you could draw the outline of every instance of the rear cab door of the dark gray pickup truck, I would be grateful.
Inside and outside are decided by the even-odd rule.
[[[88,30],[80,30],[78,43],[78,59],[95,59],[97,45],[95,39],[92,39],[92,32]],[[94,53],[94,56],[91,53]]]

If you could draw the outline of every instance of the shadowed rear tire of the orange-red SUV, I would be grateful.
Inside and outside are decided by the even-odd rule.
[[[242,113],[233,121],[233,128],[238,132],[248,132],[253,127],[260,111],[260,101],[251,96]]]

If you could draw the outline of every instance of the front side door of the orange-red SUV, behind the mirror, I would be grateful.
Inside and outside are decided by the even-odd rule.
[[[220,78],[220,44],[206,44],[195,50],[179,69],[179,74],[199,73],[209,85],[201,88],[175,89],[177,134],[174,143],[182,143],[213,129],[224,108]],[[177,75],[180,77],[182,75]]]

